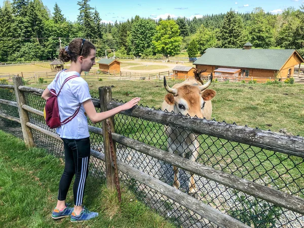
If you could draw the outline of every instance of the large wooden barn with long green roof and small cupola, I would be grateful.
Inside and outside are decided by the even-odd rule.
[[[207,69],[203,75],[211,72],[215,75],[219,68],[238,73],[239,80],[249,81],[252,78],[259,82],[270,78],[286,79],[294,74],[294,67],[304,60],[294,49],[251,49],[246,43],[243,49],[208,48],[193,64],[198,70]],[[251,78],[252,77],[252,78]]]

